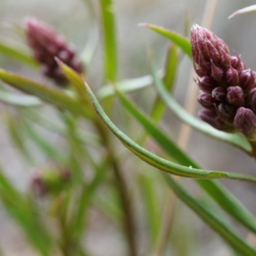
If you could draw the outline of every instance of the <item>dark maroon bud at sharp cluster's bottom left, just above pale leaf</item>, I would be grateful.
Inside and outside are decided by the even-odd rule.
[[[217,115],[215,110],[210,110],[210,109],[201,109],[198,112],[198,116],[204,121],[207,122],[208,124],[212,125],[218,130],[225,131],[228,127],[225,122],[223,122],[219,116]]]

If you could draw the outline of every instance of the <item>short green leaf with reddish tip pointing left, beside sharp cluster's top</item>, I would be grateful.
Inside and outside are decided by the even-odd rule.
[[[147,24],[147,23],[141,23],[139,26],[147,27],[150,28],[157,33],[159,33],[162,36],[165,36],[166,38],[172,40],[174,44],[177,44],[184,53],[186,53],[189,58],[192,58],[192,52],[191,52],[191,45],[189,40],[184,37],[179,35],[178,33],[175,33],[171,30],[168,30],[166,28],[162,28],[160,26],[152,25],[152,24]]]

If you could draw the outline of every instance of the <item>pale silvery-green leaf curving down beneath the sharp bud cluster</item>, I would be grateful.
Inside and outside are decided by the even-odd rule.
[[[184,108],[182,108],[179,103],[173,99],[172,95],[164,88],[164,84],[161,79],[156,74],[156,67],[154,63],[151,65],[152,67],[152,76],[154,78],[154,85],[156,86],[157,92],[159,93],[163,102],[168,106],[168,108],[172,109],[172,111],[186,124],[191,125],[197,131],[203,132],[213,138],[216,138],[221,141],[225,141],[230,143],[236,147],[243,149],[244,151],[252,152],[252,146],[249,141],[243,136],[243,134],[238,133],[227,133],[223,131],[219,131],[212,127],[211,125],[203,122],[202,120],[196,118],[193,115],[190,115]]]

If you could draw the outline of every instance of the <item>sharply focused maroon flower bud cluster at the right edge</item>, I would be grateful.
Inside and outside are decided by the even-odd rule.
[[[212,31],[196,24],[191,29],[193,64],[201,89],[198,115],[222,131],[234,129],[256,140],[256,72]]]

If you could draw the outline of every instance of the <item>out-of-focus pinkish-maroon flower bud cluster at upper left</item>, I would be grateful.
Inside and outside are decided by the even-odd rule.
[[[77,58],[74,47],[68,44],[64,36],[58,34],[51,26],[41,20],[29,18],[26,21],[26,33],[35,59],[43,66],[44,75],[54,79],[56,84],[65,85],[67,79],[54,60],[55,57],[77,72],[83,72],[83,65]]]

